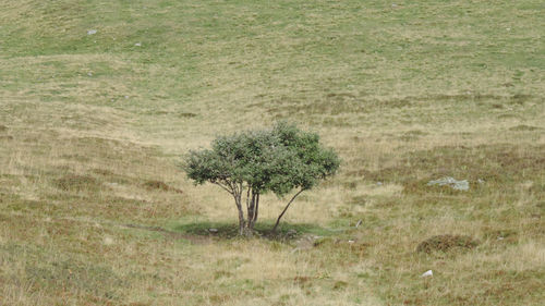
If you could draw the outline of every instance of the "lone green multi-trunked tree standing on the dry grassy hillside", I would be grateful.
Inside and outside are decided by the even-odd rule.
[[[283,197],[296,189],[276,221],[272,229],[276,232],[293,200],[335,174],[339,164],[337,154],[323,147],[316,133],[279,122],[269,130],[220,136],[213,142],[211,149],[190,151],[183,169],[195,184],[209,182],[233,196],[239,232],[243,235],[253,232],[262,194],[271,192]]]

